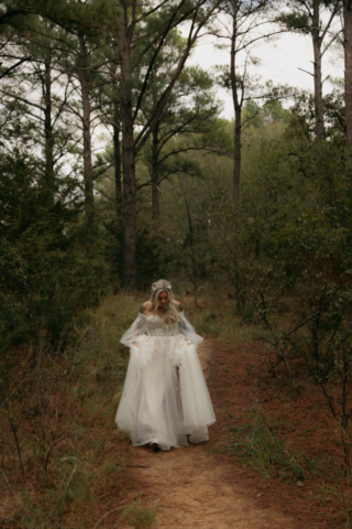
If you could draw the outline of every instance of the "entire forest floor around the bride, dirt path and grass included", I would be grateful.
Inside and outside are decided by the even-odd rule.
[[[24,472],[3,415],[0,527],[351,529],[352,488],[323,396],[299,364],[294,390],[231,303],[186,306],[199,334],[211,336],[199,358],[217,422],[209,442],[168,452],[133,447],[113,428],[128,360],[120,337],[140,299],[106,300],[77,350],[46,357],[38,395],[37,371],[19,348],[13,413]]]

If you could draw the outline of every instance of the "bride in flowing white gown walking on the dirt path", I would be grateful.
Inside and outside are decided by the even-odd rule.
[[[169,450],[187,445],[187,435],[193,443],[208,441],[216,418],[196,352],[200,342],[170,282],[153,283],[150,301],[121,338],[130,363],[116,422],[134,446]]]

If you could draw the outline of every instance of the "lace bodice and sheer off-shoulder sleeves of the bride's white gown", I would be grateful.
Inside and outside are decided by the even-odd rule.
[[[156,314],[145,315],[140,312],[132,326],[122,336],[121,343],[130,347],[139,341],[139,336],[145,333],[148,336],[177,336],[182,334],[196,346],[202,342],[202,337],[198,336],[190,323],[187,322],[184,311],[178,314],[178,322],[174,325],[165,325],[164,319]]]

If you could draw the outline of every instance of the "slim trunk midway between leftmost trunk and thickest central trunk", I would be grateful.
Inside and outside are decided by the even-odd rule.
[[[85,179],[85,206],[88,223],[94,223],[94,183],[91,163],[91,136],[90,136],[90,100],[89,100],[89,74],[87,69],[87,50],[82,35],[79,40],[78,74],[81,89],[82,105],[82,132],[84,132],[84,179]]]

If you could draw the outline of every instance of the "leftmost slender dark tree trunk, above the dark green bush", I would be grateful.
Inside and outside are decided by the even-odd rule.
[[[45,136],[45,196],[48,204],[54,202],[54,134],[52,123],[52,65],[51,60],[45,61],[44,73],[44,136]]]

